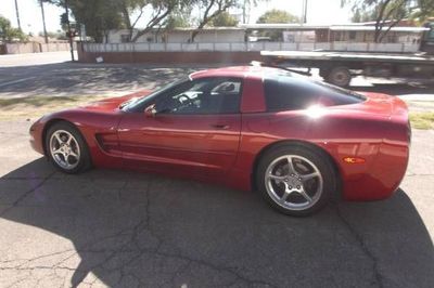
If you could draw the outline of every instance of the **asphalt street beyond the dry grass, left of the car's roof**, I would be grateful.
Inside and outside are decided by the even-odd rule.
[[[0,99],[113,95],[154,89],[194,69],[72,63],[68,52],[0,55]]]

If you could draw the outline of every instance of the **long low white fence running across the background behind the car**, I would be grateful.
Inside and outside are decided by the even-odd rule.
[[[85,52],[248,52],[261,50],[277,51],[355,51],[355,52],[417,52],[419,44],[411,43],[355,43],[355,42],[241,42],[241,43],[84,43]]]

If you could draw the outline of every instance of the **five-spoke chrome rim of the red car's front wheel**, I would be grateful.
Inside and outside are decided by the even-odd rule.
[[[66,170],[77,167],[80,159],[77,140],[65,130],[56,130],[51,134],[50,153],[54,161]]]

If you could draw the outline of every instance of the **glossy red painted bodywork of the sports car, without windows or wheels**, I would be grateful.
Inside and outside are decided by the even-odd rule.
[[[191,76],[244,79],[239,115],[146,117],[119,110],[120,103],[137,96],[132,94],[39,119],[30,129],[31,146],[43,154],[44,126],[63,119],[80,130],[95,167],[164,172],[251,189],[256,156],[280,141],[295,141],[330,155],[345,199],[383,199],[398,187],[409,156],[408,116],[403,101],[369,93],[366,102],[323,107],[320,114],[266,113],[261,76],[268,69],[229,67]],[[365,161],[349,163],[345,157]]]

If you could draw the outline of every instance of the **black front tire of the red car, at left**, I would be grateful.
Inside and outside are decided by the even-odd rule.
[[[61,139],[65,136],[64,143],[62,143],[63,145],[65,145],[64,147],[61,147],[60,142],[55,140],[55,135],[60,135]],[[66,138],[69,135],[73,136],[73,140],[66,146]],[[53,144],[51,144],[52,141],[54,142]],[[81,133],[72,123],[60,121],[52,125],[46,133],[44,142],[47,156],[49,157],[53,166],[62,172],[76,174],[91,168],[91,159],[88,145],[84,140]],[[58,147],[55,147],[56,144],[59,145]],[[62,148],[62,152],[54,153],[54,150],[60,150]],[[74,157],[73,154],[76,154],[78,157]],[[65,157],[65,155],[67,156]],[[67,158],[68,160],[65,161],[65,158]],[[62,159],[65,165],[67,165],[68,162],[73,162],[73,165],[71,165],[71,167],[66,167],[65,165],[62,165]]]

